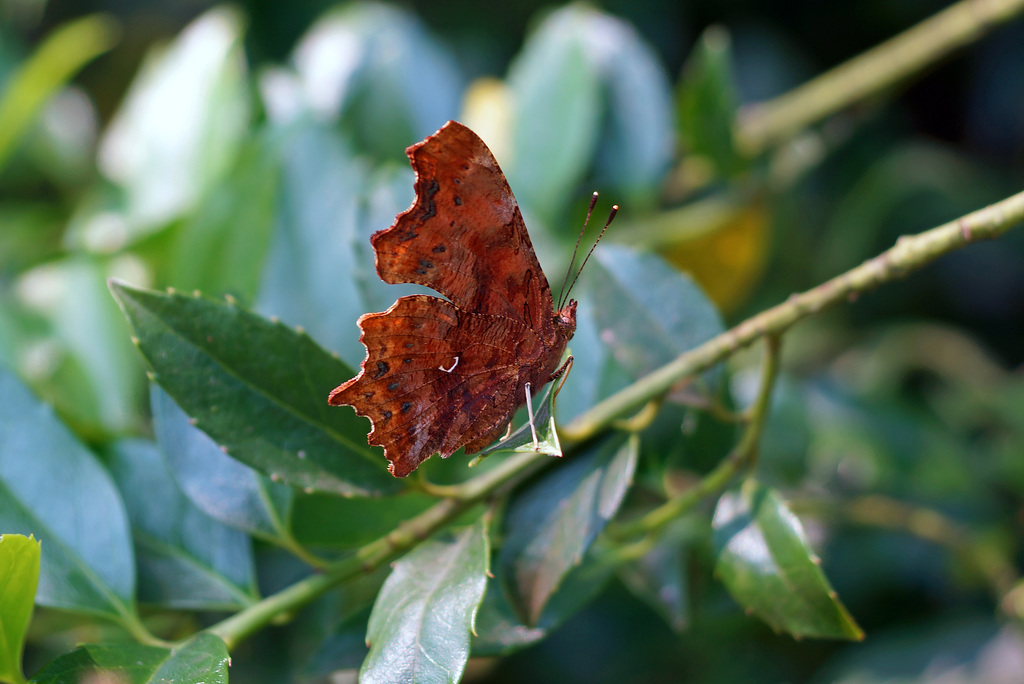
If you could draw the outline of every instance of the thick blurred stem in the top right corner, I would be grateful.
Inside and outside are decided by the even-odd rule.
[[[961,0],[921,24],[737,118],[736,142],[755,156],[840,110],[934,65],[1024,12],[1024,0]]]

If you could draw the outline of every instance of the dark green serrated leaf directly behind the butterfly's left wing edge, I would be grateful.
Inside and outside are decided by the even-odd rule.
[[[352,372],[303,332],[234,303],[111,282],[154,380],[234,458],[272,479],[342,496],[401,484],[367,422],[327,395]]]

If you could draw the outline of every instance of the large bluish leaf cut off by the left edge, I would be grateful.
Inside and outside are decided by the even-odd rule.
[[[134,619],[131,536],[111,476],[2,369],[0,396],[0,529],[42,543],[36,601]]]

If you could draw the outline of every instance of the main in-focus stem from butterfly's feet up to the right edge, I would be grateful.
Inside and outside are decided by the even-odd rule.
[[[816,288],[748,318],[735,328],[676,357],[581,414],[563,431],[566,441],[587,439],[611,421],[639,410],[681,380],[711,368],[759,337],[779,335],[795,324],[862,292],[918,270],[938,257],[979,240],[997,238],[1024,220],[1024,193],[915,236]]]

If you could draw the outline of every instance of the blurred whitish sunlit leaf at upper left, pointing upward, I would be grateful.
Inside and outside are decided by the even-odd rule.
[[[231,168],[250,120],[242,31],[219,7],[151,50],[106,127],[98,162],[124,189],[129,239],[195,208]]]

